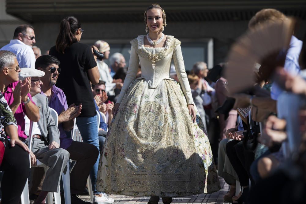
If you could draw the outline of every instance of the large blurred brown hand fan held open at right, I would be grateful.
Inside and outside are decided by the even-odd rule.
[[[261,64],[260,78],[267,79],[277,66],[284,66],[293,35],[294,19],[269,22],[247,31],[231,47],[225,69],[231,94],[243,92],[255,83],[255,64]],[[258,70],[257,70],[258,71]]]

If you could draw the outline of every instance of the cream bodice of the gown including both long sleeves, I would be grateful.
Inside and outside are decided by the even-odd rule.
[[[187,104],[194,105],[185,71],[181,42],[174,38],[174,36],[167,35],[165,47],[144,47],[144,36],[145,35],[139,35],[130,42],[132,47],[129,69],[120,95],[117,99],[117,103],[121,103],[129,85],[136,79],[139,62],[141,66],[141,77],[138,79],[144,78],[147,81],[149,88],[156,88],[164,79],[173,80],[170,78],[170,66],[173,58],[177,78],[184,92]]]

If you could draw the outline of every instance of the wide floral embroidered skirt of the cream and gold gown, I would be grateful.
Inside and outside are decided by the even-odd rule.
[[[196,109],[196,107],[195,107]],[[196,109],[197,112],[197,109]],[[129,86],[100,157],[97,189],[132,196],[187,196],[220,189],[210,143],[193,123],[180,85]]]

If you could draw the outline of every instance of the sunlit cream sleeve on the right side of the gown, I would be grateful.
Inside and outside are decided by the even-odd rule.
[[[174,61],[177,78],[179,80],[179,83],[181,84],[182,90],[187,100],[187,104],[195,105],[192,99],[191,88],[185,71],[185,64],[182,55],[181,45],[177,45],[176,48],[174,49],[173,61]]]

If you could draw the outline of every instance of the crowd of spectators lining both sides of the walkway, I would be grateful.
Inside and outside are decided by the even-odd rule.
[[[249,29],[286,18],[275,9],[263,9],[250,20]],[[43,203],[48,192],[59,190],[69,159],[76,161],[70,172],[72,203],[86,203],[77,195],[84,192],[88,175],[93,203],[114,202],[97,191],[95,183],[112,110],[127,68],[122,54],[110,55],[107,42],[99,40],[91,47],[79,43],[83,32],[76,18],[63,19],[56,45],[50,48],[49,55],[42,55],[39,47],[33,46],[34,28],[21,25],[10,43],[0,49],[0,170],[4,204],[19,202],[29,175],[28,154],[32,167],[37,159],[49,167],[47,172],[39,167],[31,169],[29,192],[33,203]],[[209,70],[205,62],[196,62],[188,74],[193,100],[218,163],[218,175],[231,186],[225,201],[305,200],[305,40],[303,44],[292,36],[285,65],[274,71],[273,78],[257,83],[257,92],[252,95],[230,94],[223,74],[226,63]],[[93,50],[103,53],[109,65],[97,60]],[[136,77],[139,76],[140,65]],[[178,81],[174,65],[169,76]],[[234,100],[233,105],[225,107],[230,99]],[[48,107],[58,113],[58,124]],[[83,142],[70,137],[75,118]],[[33,140],[28,149],[31,121]],[[241,190],[235,195],[237,181]],[[282,196],[284,192],[291,196]]]

